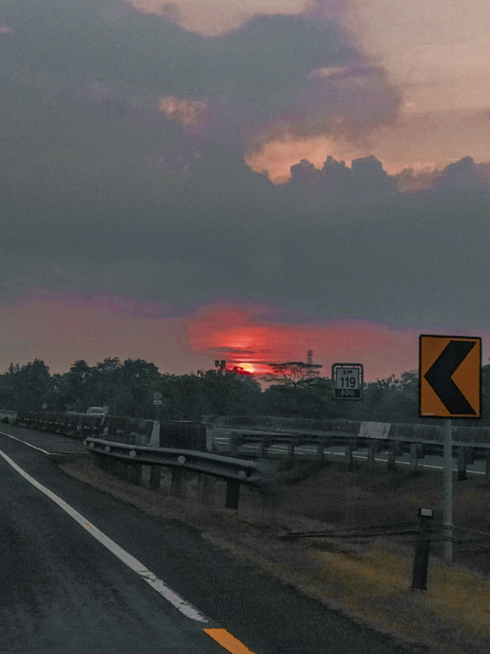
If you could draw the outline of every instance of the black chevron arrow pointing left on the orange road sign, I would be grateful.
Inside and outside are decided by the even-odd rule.
[[[474,341],[449,341],[424,375],[442,404],[449,413],[455,415],[476,415],[468,400],[451,379],[474,345]]]

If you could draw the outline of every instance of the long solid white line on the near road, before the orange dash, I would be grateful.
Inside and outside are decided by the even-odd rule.
[[[8,434],[7,434],[8,436]],[[16,439],[17,440],[17,439]],[[27,445],[29,443],[26,443]],[[38,448],[36,448],[38,449]],[[3,453],[0,450],[0,456],[2,456],[7,463],[14,468],[24,479],[27,479],[29,483],[31,483],[35,488],[38,490],[41,490],[44,495],[46,495],[50,500],[52,500],[57,506],[59,506],[63,511],[68,513],[68,515],[74,519],[79,525],[84,527],[88,531],[88,533],[93,536],[96,540],[99,541],[106,549],[108,549],[114,556],[118,557],[118,559],[122,560],[122,562],[127,565],[128,568],[131,568],[133,572],[136,572],[146,583],[148,583],[157,593],[159,593],[167,602],[170,602],[172,606],[174,606],[180,613],[183,613],[186,615],[186,617],[190,618],[191,620],[195,620],[197,622],[201,623],[208,623],[210,622],[210,619],[205,617],[201,611],[197,610],[195,606],[184,600],[178,593],[175,591],[172,591],[172,589],[167,586],[167,584],[162,581],[162,579],[159,579],[153,572],[148,570],[146,566],[144,566],[139,560],[135,559],[135,557],[131,556],[129,552],[125,551],[120,545],[117,543],[114,543],[113,540],[111,540],[108,536],[106,536],[103,532],[101,532],[95,525],[92,525],[91,522],[89,522],[86,518],[83,517],[81,513],[78,513],[78,511],[75,511],[74,508],[72,508],[67,502],[62,500],[60,497],[58,497],[52,490],[47,489],[45,486],[43,486],[39,481],[36,481],[31,475],[28,475],[27,472],[22,470],[20,466],[16,464],[16,462],[12,461],[12,459],[7,456],[5,453]]]

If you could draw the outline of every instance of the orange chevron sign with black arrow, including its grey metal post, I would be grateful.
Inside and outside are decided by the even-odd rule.
[[[482,414],[482,339],[419,337],[419,415],[444,418],[444,558],[453,560],[453,419]]]

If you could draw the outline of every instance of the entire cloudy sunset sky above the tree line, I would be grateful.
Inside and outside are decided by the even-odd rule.
[[[486,5],[1,0],[1,370],[485,363]]]

